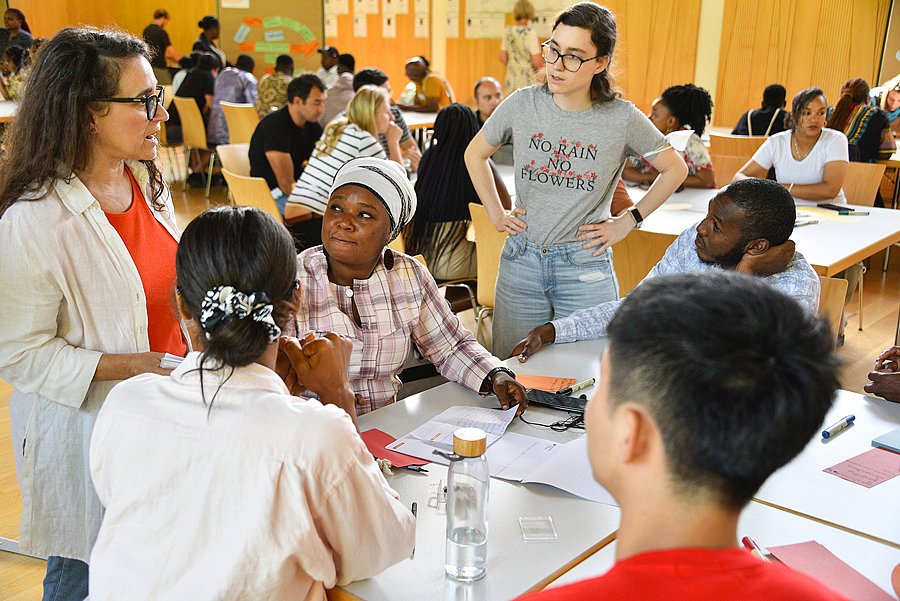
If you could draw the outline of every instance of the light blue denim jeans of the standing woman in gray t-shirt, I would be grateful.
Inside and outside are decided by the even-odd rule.
[[[507,237],[494,291],[494,355],[508,357],[535,326],[619,298],[612,250],[594,257],[596,248],[581,245]]]

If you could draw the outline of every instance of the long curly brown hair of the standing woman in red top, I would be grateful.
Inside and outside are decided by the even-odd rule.
[[[70,181],[88,167],[92,113],[109,111],[97,100],[116,95],[125,59],[149,56],[140,38],[93,27],[62,29],[41,48],[3,139],[0,217],[16,202],[44,198],[57,181]],[[150,174],[151,205],[162,211],[162,172],[156,161],[141,163]]]

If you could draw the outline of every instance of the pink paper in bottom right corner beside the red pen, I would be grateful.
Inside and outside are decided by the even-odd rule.
[[[825,586],[850,599],[894,601],[894,598],[847,565],[831,551],[808,541],[781,547],[768,547],[769,553],[788,567],[812,576]]]

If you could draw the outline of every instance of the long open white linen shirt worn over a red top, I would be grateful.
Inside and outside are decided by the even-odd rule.
[[[150,205],[149,174],[127,161]],[[39,196],[39,195],[37,195]],[[179,232],[168,189],[165,211]],[[0,217],[0,377],[22,493],[20,546],[88,561],[102,508],[88,465],[97,412],[116,382],[92,382],[104,353],[150,350],[147,302],[125,243],[73,174]]]

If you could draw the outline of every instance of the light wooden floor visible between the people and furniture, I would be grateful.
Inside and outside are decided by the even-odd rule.
[[[226,202],[223,188],[214,188],[209,200],[204,199],[202,190],[188,189],[183,193],[180,184],[173,186],[172,194],[181,227],[209,206]],[[894,254],[887,273],[881,271],[881,254],[871,261],[871,270],[865,277],[865,330],[862,332],[857,330],[856,298],[850,303],[846,343],[840,350],[845,361],[841,384],[847,390],[862,392],[875,356],[893,343],[900,307],[900,252]],[[471,311],[467,313],[462,316],[463,321],[471,328],[474,319]],[[0,381],[0,537],[16,539],[21,502],[10,449],[11,391],[8,384]],[[40,599],[43,573],[43,561],[0,552],[0,601]]]

